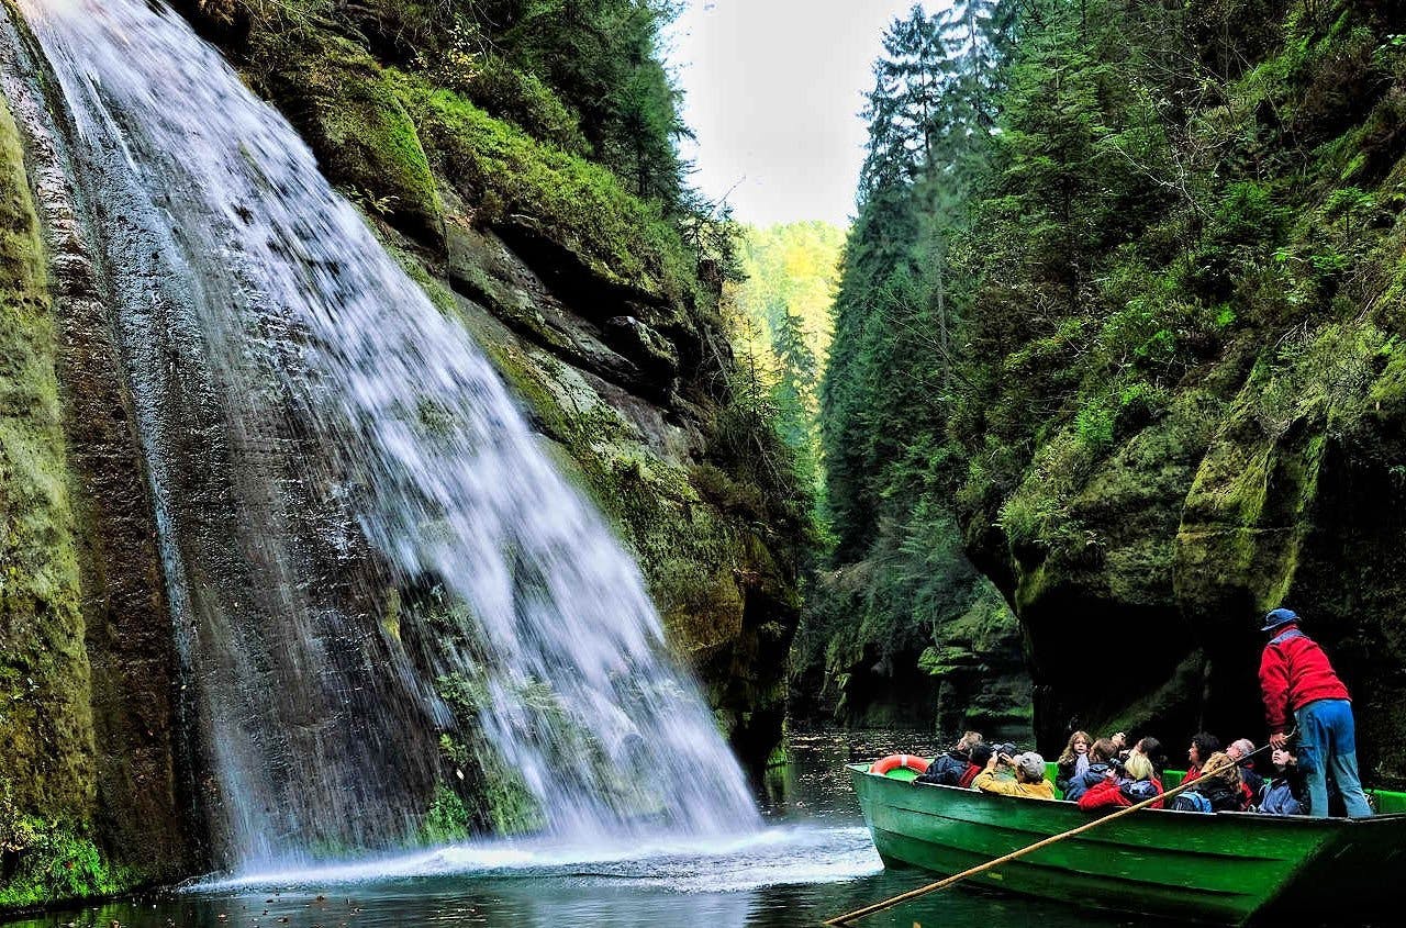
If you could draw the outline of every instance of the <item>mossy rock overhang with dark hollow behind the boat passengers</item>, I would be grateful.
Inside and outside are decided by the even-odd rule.
[[[1365,769],[1406,780],[1406,366],[1371,321],[1301,337],[1296,361],[1236,349],[1185,384],[1050,540],[979,548],[1012,578],[1043,749],[1071,728],[1261,741],[1257,620],[1289,605],[1354,695]]]

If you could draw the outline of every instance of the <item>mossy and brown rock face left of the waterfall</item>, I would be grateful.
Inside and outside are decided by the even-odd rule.
[[[21,48],[0,24],[4,906],[122,891],[200,861],[131,397]]]

